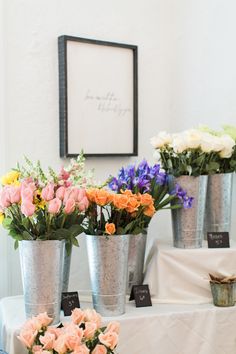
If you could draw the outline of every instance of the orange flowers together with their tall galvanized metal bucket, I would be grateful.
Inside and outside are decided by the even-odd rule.
[[[130,190],[87,190],[86,243],[93,305],[103,316],[125,312],[129,236],[145,227],[153,199]],[[140,231],[139,231],[140,232]]]

